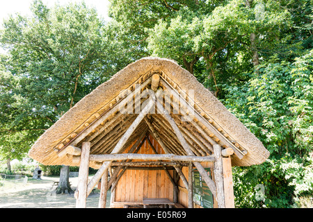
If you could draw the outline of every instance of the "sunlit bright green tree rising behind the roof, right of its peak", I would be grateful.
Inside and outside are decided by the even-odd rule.
[[[268,36],[268,40],[263,42],[271,42],[279,36],[279,27],[289,24],[288,12],[266,8],[259,18],[250,3],[248,6],[246,8],[243,1],[235,0],[220,4],[202,15],[188,9],[179,10],[177,17],[170,22],[160,20],[150,29],[148,49],[155,56],[174,58],[192,74],[195,63],[203,60],[204,73],[214,86],[211,90],[218,96],[220,86],[239,75],[230,72],[236,62],[232,58],[242,58],[252,51],[249,55],[252,64],[259,65],[257,37]],[[229,61],[230,67],[227,66]]]

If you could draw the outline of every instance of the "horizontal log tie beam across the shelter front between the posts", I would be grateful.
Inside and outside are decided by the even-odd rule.
[[[90,161],[104,162],[115,160],[171,160],[182,162],[214,162],[213,155],[204,157],[196,155],[175,155],[175,154],[138,154],[138,153],[120,153],[120,154],[102,154],[90,155]]]

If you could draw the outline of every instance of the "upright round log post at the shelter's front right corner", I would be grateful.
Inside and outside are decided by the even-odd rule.
[[[214,178],[216,183],[216,199],[218,208],[225,208],[224,183],[223,183],[223,161],[221,147],[218,144],[213,146],[216,161],[214,162]]]

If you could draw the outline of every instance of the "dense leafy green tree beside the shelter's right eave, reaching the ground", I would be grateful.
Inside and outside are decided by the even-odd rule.
[[[264,164],[235,169],[241,207],[290,207],[312,196],[312,71],[311,50],[292,63],[262,65],[242,87],[227,88],[224,104],[271,153]],[[263,201],[252,195],[258,184],[266,187]]]

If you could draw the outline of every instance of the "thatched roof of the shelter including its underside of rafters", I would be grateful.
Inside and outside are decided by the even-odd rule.
[[[81,147],[82,142],[91,142],[91,154],[111,153],[120,137],[138,116],[122,114],[118,105],[127,98],[128,100],[133,98],[127,95],[136,90],[136,84],[141,84],[141,92],[149,89],[153,74],[159,74],[160,88],[174,90],[176,96],[179,94],[180,99],[189,104],[194,102],[195,117],[192,121],[182,121],[184,109],[178,113],[172,111],[170,115],[184,133],[195,155],[210,155],[213,144],[220,144],[224,148],[234,149],[233,165],[249,166],[261,164],[266,160],[269,152],[255,135],[250,133],[193,75],[176,62],[163,58],[138,60],[119,71],[109,81],[99,85],[40,136],[29,151],[29,157],[47,165],[77,166],[79,164],[72,161],[72,155],[61,153],[69,145]],[[171,98],[175,100],[173,99],[175,96]],[[145,99],[139,100],[141,105]],[[138,104],[135,103],[136,101],[134,109]],[[158,131],[169,151],[176,155],[186,155],[162,114],[148,114],[147,119]],[[144,132],[151,133],[146,121],[142,121],[136,128],[127,140],[125,149],[134,144]],[[91,162],[90,167],[98,168],[98,165]]]

